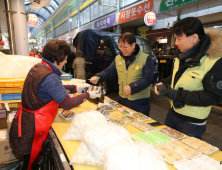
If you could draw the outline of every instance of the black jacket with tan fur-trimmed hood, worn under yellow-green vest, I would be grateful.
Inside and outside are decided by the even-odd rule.
[[[175,50],[174,54],[180,59],[179,70],[174,78],[174,86],[187,68],[200,65],[200,59],[204,55],[210,58],[222,57],[222,31],[217,29],[206,30],[206,35],[200,42],[185,53]],[[161,80],[164,84],[171,84],[172,75]],[[222,58],[216,61],[213,67],[204,75],[202,80],[204,90],[188,91],[179,88],[174,102],[183,102],[191,106],[211,106],[222,101]],[[173,110],[174,111],[174,110]],[[188,122],[201,123],[205,120],[187,117],[174,111],[176,117]]]

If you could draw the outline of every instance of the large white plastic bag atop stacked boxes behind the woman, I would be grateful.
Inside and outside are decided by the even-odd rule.
[[[29,70],[41,61],[41,59],[30,56],[0,53],[0,78],[26,77]]]

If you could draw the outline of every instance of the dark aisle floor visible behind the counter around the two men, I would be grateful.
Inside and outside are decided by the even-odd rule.
[[[116,100],[117,91],[112,91],[107,96]],[[169,100],[166,97],[158,97],[151,91],[151,118],[164,124],[169,108]],[[212,108],[203,140],[222,150],[222,107]]]

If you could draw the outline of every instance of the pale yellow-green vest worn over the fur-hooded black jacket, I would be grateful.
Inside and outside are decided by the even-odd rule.
[[[179,78],[179,80],[175,84],[175,87],[173,87],[174,78],[179,69],[180,64],[180,60],[176,58],[174,63],[171,88],[175,90],[178,90],[178,88],[183,88],[184,90],[189,91],[203,90],[202,80],[218,59],[220,59],[220,57],[211,59],[207,57],[207,55],[205,55],[200,60],[200,66],[188,68]],[[183,108],[175,108],[173,106],[172,100],[170,100],[170,104],[171,107],[173,107],[177,113],[197,119],[206,119],[211,110],[211,106],[204,107],[185,105]]]

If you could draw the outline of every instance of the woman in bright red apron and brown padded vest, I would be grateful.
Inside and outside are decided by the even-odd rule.
[[[70,110],[83,103],[85,99],[100,97],[95,92],[84,92],[76,97],[71,93],[82,92],[84,86],[63,86],[60,76],[71,50],[62,40],[49,41],[42,52],[42,62],[29,71],[23,91],[22,104],[13,119],[10,130],[10,145],[13,150],[24,155],[22,170],[31,170],[31,164],[39,154],[43,141],[60,106]],[[38,139],[39,137],[39,139]]]

